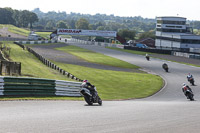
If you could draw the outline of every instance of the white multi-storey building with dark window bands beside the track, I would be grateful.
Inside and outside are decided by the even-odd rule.
[[[200,36],[193,34],[193,29],[183,17],[157,17],[157,48],[200,48]]]

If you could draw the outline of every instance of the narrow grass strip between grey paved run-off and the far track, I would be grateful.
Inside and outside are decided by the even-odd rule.
[[[138,69],[139,67],[128,62],[106,56],[104,54],[96,53],[87,49],[79,48],[76,46],[66,46],[61,48],[56,48],[57,50],[61,50],[70,54],[73,54],[81,59],[84,59],[88,62],[121,67],[121,68],[129,68],[129,69]]]

